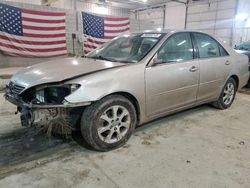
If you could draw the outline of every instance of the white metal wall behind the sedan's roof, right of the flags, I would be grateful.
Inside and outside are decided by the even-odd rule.
[[[233,43],[236,7],[237,0],[191,1],[188,5],[187,29],[202,30],[215,35],[231,45]],[[139,27],[140,30],[156,30],[159,27],[163,27],[164,15],[162,8],[145,10],[132,15],[131,17],[136,20],[137,24],[143,23]],[[166,3],[165,29],[184,29],[185,16],[185,4]]]

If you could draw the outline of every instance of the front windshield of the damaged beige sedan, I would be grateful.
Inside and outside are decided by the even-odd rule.
[[[122,63],[137,63],[162,39],[164,34],[147,33],[124,35],[96,49],[87,58]]]

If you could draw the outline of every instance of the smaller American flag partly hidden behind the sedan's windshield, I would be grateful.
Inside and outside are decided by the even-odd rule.
[[[129,18],[100,17],[82,12],[84,53],[129,31]]]

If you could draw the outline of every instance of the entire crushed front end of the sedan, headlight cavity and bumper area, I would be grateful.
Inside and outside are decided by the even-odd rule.
[[[25,88],[11,81],[6,86],[5,98],[17,106],[22,126],[53,127],[59,132],[65,128],[74,130],[77,129],[84,106],[89,103],[71,104],[65,97],[79,87],[78,84],[57,83]]]

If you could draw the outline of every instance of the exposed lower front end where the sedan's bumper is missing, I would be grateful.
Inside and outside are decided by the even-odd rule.
[[[64,104],[34,104],[26,103],[20,96],[14,96],[10,92],[5,93],[5,98],[17,106],[21,113],[22,126],[67,126],[77,129],[85,106],[91,102]]]

